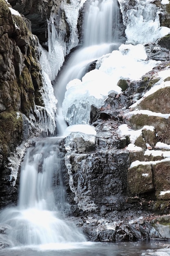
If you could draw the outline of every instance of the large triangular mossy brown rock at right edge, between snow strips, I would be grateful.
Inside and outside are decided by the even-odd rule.
[[[150,110],[152,112],[168,114],[170,113],[170,87],[157,90],[153,94],[143,99],[139,105],[139,109]]]

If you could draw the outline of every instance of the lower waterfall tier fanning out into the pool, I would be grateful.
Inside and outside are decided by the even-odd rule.
[[[18,206],[0,214],[9,225],[13,245],[85,242],[73,223],[64,219],[69,211],[62,181],[58,138],[46,138],[30,148],[20,177]]]

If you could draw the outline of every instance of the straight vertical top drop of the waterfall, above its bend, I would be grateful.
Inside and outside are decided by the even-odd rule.
[[[117,1],[95,0],[90,2],[84,15],[83,45],[99,45],[118,41]]]

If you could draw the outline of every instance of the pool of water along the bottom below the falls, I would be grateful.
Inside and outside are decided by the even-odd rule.
[[[167,240],[120,243],[70,243],[48,244],[38,247],[13,247],[1,249],[0,256],[141,256],[153,249],[170,245]],[[149,251],[147,251],[149,250]],[[158,255],[158,254],[157,254]]]

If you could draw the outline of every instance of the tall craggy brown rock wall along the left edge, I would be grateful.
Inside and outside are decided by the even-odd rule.
[[[41,67],[38,40],[29,22],[11,14],[7,2],[0,0],[0,198],[1,205],[16,200],[10,190],[7,158],[23,139],[22,114],[29,117],[35,103],[42,106]]]

